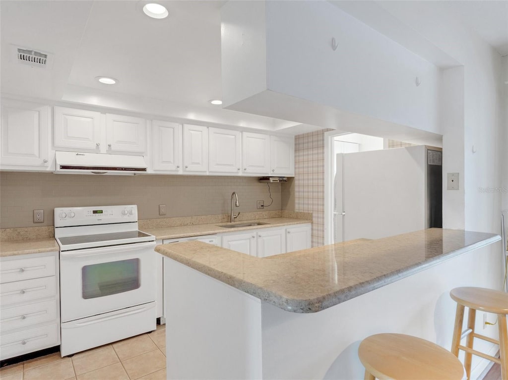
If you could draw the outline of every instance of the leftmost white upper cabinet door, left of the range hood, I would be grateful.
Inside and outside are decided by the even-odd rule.
[[[3,165],[48,166],[49,107],[2,100]]]

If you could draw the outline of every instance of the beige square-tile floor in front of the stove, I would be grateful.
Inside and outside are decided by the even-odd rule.
[[[166,379],[166,325],[72,358],[59,353],[0,368],[1,380]]]

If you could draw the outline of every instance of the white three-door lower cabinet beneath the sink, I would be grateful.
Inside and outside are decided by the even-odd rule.
[[[310,223],[221,235],[222,247],[256,257],[310,248]]]

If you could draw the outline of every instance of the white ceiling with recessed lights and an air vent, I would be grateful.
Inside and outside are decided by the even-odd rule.
[[[144,3],[2,0],[2,93],[118,108],[152,104],[176,117],[198,115],[231,125],[268,129],[298,125],[223,110],[208,102],[221,97],[220,8],[225,1],[162,1],[170,14],[162,20],[145,16]],[[368,3],[372,2],[364,4]],[[434,2],[424,3],[431,9]],[[508,53],[508,1],[440,3],[499,54]],[[16,63],[12,44],[53,53],[51,70]],[[119,82],[104,85],[94,79],[97,76]]]

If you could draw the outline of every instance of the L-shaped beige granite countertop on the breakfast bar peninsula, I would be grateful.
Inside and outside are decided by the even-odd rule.
[[[500,240],[431,228],[257,258],[188,241],[155,251],[294,313],[314,313]]]

